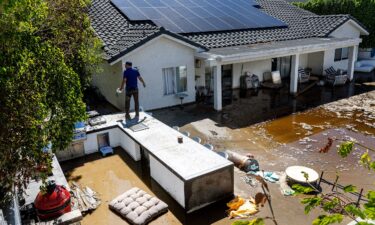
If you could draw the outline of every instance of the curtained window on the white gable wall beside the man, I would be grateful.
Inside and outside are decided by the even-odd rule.
[[[186,66],[163,68],[164,95],[172,95],[187,90]]]

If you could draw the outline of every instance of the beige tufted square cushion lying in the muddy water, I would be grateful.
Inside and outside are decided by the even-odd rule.
[[[137,225],[146,224],[168,211],[167,204],[137,187],[113,199],[109,208]]]

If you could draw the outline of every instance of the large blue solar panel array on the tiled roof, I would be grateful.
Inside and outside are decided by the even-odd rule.
[[[284,27],[255,0],[111,0],[129,20],[152,21],[175,33]]]

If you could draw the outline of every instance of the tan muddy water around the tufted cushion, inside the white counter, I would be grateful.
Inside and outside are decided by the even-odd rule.
[[[152,188],[152,185],[157,184],[146,183],[142,180],[143,176],[149,177],[145,168],[142,168],[140,163],[134,162],[121,148],[116,148],[112,156],[103,158],[99,153],[91,154],[63,162],[61,167],[66,171],[68,182],[75,181],[89,186],[98,193],[102,201],[96,210],[84,216],[81,221],[83,225],[127,224],[108,208],[108,203],[132,187],[139,187],[152,195],[160,196],[160,194],[155,194],[160,188]],[[180,222],[169,211],[154,220],[153,224],[175,225]]]

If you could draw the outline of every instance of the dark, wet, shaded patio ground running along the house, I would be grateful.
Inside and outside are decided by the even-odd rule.
[[[360,75],[355,74],[356,76]],[[215,111],[209,103],[200,102],[185,105],[183,110],[180,107],[155,110],[153,115],[170,126],[184,126],[209,118],[219,126],[232,129],[244,128],[375,90],[375,86],[371,83],[351,82],[334,88],[315,85],[303,94],[293,97],[290,95],[288,82],[284,83],[286,85],[278,90],[261,88],[257,91],[242,92],[234,89],[231,101],[227,102],[220,112]]]

